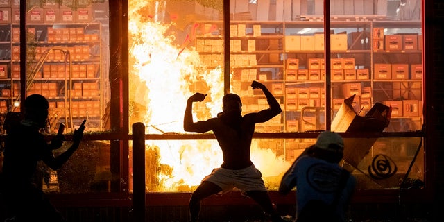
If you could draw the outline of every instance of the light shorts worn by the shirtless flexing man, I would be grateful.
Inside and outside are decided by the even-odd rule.
[[[210,175],[205,176],[202,181],[212,182],[221,187],[223,194],[234,187],[240,189],[242,194],[246,191],[267,191],[262,180],[262,173],[255,165],[244,169],[215,168]]]

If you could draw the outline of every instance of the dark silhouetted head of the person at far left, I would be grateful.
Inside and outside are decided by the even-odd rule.
[[[25,119],[37,123],[40,128],[46,126],[49,103],[44,96],[40,94],[32,94],[31,96],[26,97],[24,108]]]

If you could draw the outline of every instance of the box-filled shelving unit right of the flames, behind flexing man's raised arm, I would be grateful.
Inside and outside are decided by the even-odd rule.
[[[221,22],[199,23],[221,27]],[[353,105],[359,114],[365,114],[375,102],[391,105],[393,110],[407,109],[402,104],[407,103],[411,113],[392,114],[393,124],[387,130],[419,130],[422,123],[418,111],[422,103],[420,27],[420,22],[407,21],[332,21],[332,114],[339,110],[343,99],[352,94],[357,94]],[[318,32],[303,34],[314,28]],[[378,31],[379,36],[376,35]],[[218,58],[217,62],[211,58],[204,59],[206,65],[210,64],[207,61],[223,65],[221,33],[221,30],[216,30],[196,37],[196,48],[203,58],[210,52],[212,58]],[[388,49],[393,42],[384,40],[384,37],[390,36],[397,37],[395,44],[398,48]],[[408,37],[413,42],[405,40]],[[219,42],[207,41],[215,38]],[[266,128],[266,132],[325,128],[323,41],[323,22],[320,21],[230,23],[230,66],[233,74],[230,81],[234,93],[242,98],[244,112],[266,107],[264,96],[255,94],[249,87],[253,80],[266,84],[284,110],[279,117],[259,124],[258,132],[262,127]],[[377,73],[380,67],[375,67],[378,64],[393,64],[396,67],[394,71],[398,72],[394,78],[381,79]],[[402,72],[401,67],[404,67],[404,73],[399,73]],[[397,103],[401,105],[396,107]],[[416,123],[406,126],[407,121]]]

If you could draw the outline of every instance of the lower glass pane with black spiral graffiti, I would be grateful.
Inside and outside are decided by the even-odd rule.
[[[347,138],[342,164],[357,177],[357,189],[422,189],[422,145],[420,138]]]

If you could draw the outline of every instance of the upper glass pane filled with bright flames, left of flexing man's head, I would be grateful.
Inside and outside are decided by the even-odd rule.
[[[215,117],[223,96],[223,1],[129,1],[130,124],[182,131],[186,101],[208,94],[198,117]]]

